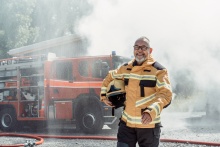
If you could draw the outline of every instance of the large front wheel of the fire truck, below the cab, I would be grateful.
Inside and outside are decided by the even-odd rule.
[[[97,98],[82,98],[77,104],[77,127],[84,133],[95,134],[102,130],[104,118]]]

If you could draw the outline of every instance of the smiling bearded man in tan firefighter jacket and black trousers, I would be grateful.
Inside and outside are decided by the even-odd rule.
[[[126,98],[120,118],[117,147],[158,147],[160,142],[161,112],[171,103],[172,90],[168,71],[152,57],[147,37],[134,44],[134,59],[110,71],[101,87],[100,99],[114,107],[106,97],[107,87],[114,79],[125,84]]]

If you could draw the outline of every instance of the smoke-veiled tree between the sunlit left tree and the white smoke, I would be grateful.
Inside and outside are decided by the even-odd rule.
[[[37,0],[32,26],[39,28],[37,42],[75,34],[80,18],[89,14],[86,0]]]

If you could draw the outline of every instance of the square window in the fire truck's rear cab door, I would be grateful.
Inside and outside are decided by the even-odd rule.
[[[56,79],[59,80],[73,80],[73,70],[71,62],[57,62],[56,63]]]

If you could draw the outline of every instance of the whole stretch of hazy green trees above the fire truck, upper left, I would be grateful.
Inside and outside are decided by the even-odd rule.
[[[86,0],[0,0],[0,58],[13,48],[74,34]]]

